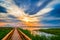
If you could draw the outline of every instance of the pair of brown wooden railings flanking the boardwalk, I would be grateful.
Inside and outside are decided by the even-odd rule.
[[[11,37],[13,35],[15,29],[11,30],[2,40],[11,40]],[[25,35],[22,31],[20,31],[19,29],[17,29],[20,37],[22,40],[31,40],[27,35]]]

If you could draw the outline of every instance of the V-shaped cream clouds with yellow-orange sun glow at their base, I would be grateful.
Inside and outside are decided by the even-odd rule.
[[[10,0],[9,3],[11,3]],[[8,7],[5,4],[1,6],[4,6],[7,9],[8,14],[15,16],[17,20],[22,21],[28,26],[38,25],[40,22],[39,18],[41,18],[40,16],[53,10],[53,8],[44,8],[34,15],[27,15],[23,9],[19,8],[14,3],[11,3]]]

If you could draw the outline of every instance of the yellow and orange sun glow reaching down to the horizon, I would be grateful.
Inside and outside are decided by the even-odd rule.
[[[22,23],[24,23],[26,26],[34,26],[37,25],[38,19],[35,17],[29,17],[29,16],[22,16],[19,18]]]

